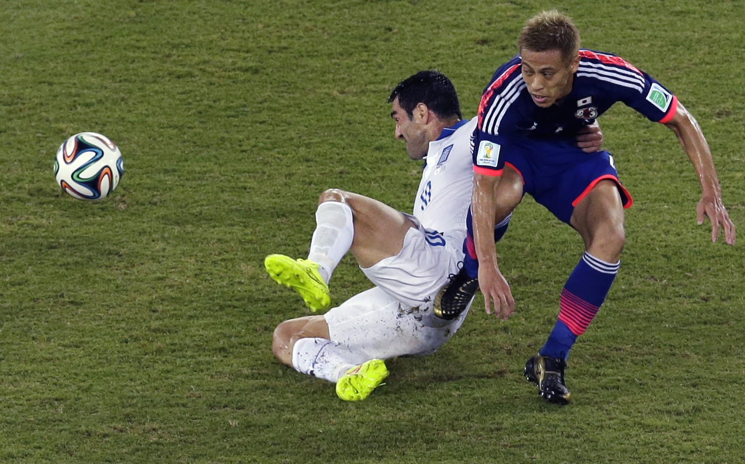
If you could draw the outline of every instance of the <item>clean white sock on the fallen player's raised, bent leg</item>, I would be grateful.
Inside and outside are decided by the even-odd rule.
[[[346,203],[323,202],[316,209],[316,224],[308,259],[320,264],[318,272],[328,284],[341,258],[352,247],[352,209]]]

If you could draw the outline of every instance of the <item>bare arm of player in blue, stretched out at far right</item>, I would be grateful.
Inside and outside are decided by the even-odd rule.
[[[678,103],[675,115],[665,125],[678,137],[698,174],[701,183],[701,200],[696,207],[698,223],[703,224],[704,218],[708,217],[711,221],[711,241],[717,241],[721,227],[724,230],[726,244],[735,244],[735,224],[729,219],[727,209],[722,203],[722,191],[714,161],[711,159],[711,150],[696,118]]]

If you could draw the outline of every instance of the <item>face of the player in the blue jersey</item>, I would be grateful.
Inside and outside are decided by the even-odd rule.
[[[566,63],[561,51],[522,50],[522,78],[533,103],[542,108],[551,107],[569,95],[574,72],[580,65],[580,57]]]

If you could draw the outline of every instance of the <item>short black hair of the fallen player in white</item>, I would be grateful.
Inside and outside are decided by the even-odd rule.
[[[438,118],[463,118],[455,86],[439,71],[419,71],[402,80],[390,92],[388,103],[393,103],[396,98],[409,118],[413,118],[413,109],[420,103],[427,105]]]

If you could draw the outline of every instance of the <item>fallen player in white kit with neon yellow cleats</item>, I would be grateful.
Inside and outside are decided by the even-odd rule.
[[[297,290],[314,313],[330,307],[329,279],[348,251],[375,284],[326,314],[285,320],[273,334],[282,363],[335,382],[347,401],[367,398],[381,384],[384,359],[435,352],[468,313],[438,317],[432,302],[463,261],[476,120],[462,119],[454,86],[437,71],[403,80],[389,103],[396,138],[410,159],[425,160],[412,214],[329,189],[320,195],[308,258],[264,260],[269,275]],[[597,150],[602,136],[595,128],[578,141]]]

